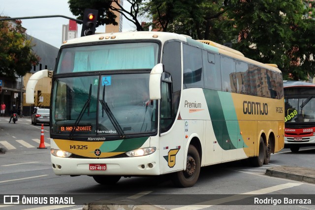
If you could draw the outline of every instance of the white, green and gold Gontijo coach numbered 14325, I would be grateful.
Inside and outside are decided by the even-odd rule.
[[[47,70],[32,76],[27,103]],[[275,64],[167,32],[95,34],[61,46],[52,77],[51,162],[56,175],[100,184],[200,168],[284,147],[284,90]]]

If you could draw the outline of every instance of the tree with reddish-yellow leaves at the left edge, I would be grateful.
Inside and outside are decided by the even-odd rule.
[[[40,60],[32,51],[34,45],[27,39],[21,23],[0,21],[0,76],[12,80],[16,76],[25,76]]]

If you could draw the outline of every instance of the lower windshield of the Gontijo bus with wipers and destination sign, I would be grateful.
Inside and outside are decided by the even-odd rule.
[[[156,101],[149,98],[149,76],[140,73],[56,79],[52,134],[121,137],[156,132]]]

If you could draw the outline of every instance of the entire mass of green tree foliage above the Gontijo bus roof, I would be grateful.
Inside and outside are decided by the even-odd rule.
[[[80,19],[84,8],[98,9],[98,25],[116,24],[111,9],[144,30],[142,15],[152,20],[146,27],[233,43],[248,58],[277,64],[285,79],[315,76],[315,24],[303,0],[127,0],[130,11],[112,2],[118,0],[68,1]]]

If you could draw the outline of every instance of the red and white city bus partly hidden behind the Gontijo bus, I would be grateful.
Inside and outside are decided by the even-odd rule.
[[[292,152],[315,144],[315,84],[284,81],[284,144]]]

